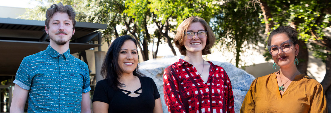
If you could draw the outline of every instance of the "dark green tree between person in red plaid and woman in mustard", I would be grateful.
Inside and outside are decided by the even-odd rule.
[[[258,6],[250,0],[230,0],[219,7],[219,14],[212,19],[217,42],[235,50],[236,67],[239,66],[240,53],[245,52],[243,44],[257,44],[261,40]]]

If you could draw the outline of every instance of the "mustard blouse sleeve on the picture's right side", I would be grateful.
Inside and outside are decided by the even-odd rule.
[[[321,84],[314,87],[314,97],[310,103],[310,113],[327,113],[326,97]]]

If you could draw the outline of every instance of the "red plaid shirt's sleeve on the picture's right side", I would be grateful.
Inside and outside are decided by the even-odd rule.
[[[229,79],[229,76],[224,71],[224,77],[226,78],[227,83],[227,108],[228,113],[234,113],[234,101],[233,101],[233,92],[232,92],[232,85]]]

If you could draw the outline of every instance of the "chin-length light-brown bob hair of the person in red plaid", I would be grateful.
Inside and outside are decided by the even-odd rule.
[[[215,43],[215,35],[213,33],[212,28],[210,28],[210,26],[207,24],[207,22],[203,19],[200,18],[198,16],[192,16],[189,17],[187,19],[185,19],[182,23],[180,23],[180,25],[177,28],[177,33],[175,38],[173,39],[176,47],[179,49],[180,54],[186,56],[186,48],[184,46],[185,40],[186,40],[186,36],[184,34],[184,32],[187,31],[187,28],[192,24],[192,23],[196,23],[196,22],[200,22],[205,30],[207,30],[207,42],[206,42],[206,46],[205,48],[202,50],[202,55],[207,55],[207,54],[211,54],[210,49],[213,47],[214,43]]]

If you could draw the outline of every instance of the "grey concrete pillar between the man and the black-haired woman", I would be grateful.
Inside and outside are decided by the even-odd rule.
[[[105,58],[106,52],[105,51],[95,51],[94,56],[95,56],[95,80],[96,83],[98,83],[100,80],[103,79],[103,77],[100,74],[101,67],[102,67],[102,62]]]

